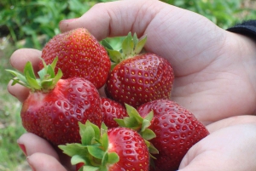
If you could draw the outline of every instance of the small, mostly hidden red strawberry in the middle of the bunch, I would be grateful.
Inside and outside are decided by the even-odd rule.
[[[128,114],[123,105],[120,105],[114,100],[102,98],[102,120],[108,128],[118,127],[114,118],[128,117]]]

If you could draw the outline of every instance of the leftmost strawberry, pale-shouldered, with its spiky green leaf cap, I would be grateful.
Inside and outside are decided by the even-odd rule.
[[[55,75],[57,58],[35,77],[32,63],[27,62],[24,74],[10,71],[15,83],[30,88],[22,104],[20,117],[28,132],[38,134],[53,145],[79,142],[79,124],[90,120],[102,123],[101,99],[96,87],[82,77],[61,79],[61,70]]]

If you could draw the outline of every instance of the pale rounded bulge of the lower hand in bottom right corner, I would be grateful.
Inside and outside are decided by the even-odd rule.
[[[179,171],[255,170],[255,140],[255,123],[219,129],[189,149]]]

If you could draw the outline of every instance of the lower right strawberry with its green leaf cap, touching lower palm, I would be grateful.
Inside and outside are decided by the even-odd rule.
[[[172,100],[153,100],[137,110],[126,105],[126,109],[129,117],[116,122],[137,130],[151,144],[151,171],[177,170],[189,148],[209,134],[190,111]]]

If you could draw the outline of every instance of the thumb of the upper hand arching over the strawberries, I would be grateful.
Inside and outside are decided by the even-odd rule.
[[[136,31],[140,37],[163,5],[166,3],[156,0],[98,3],[76,20],[61,21],[60,29],[64,32],[84,27],[98,40],[125,36],[129,31]]]

